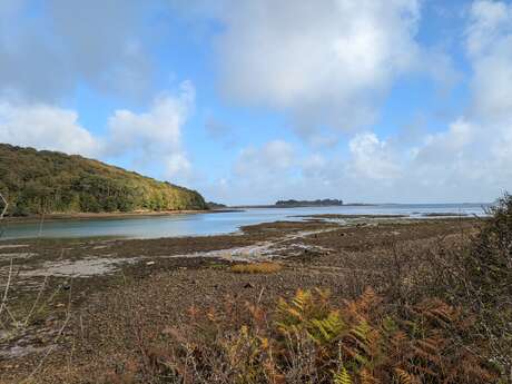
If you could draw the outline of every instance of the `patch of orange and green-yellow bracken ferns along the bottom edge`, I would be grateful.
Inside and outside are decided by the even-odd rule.
[[[333,303],[327,292],[298,291],[272,313],[246,306],[233,326],[229,312],[194,313],[189,328],[145,351],[145,371],[121,373],[157,383],[492,383],[498,373],[461,337],[472,325],[440,301],[386,314],[367,289]],[[238,315],[237,315],[238,316]],[[142,378],[142,375],[146,375]],[[111,377],[119,380],[119,374]]]

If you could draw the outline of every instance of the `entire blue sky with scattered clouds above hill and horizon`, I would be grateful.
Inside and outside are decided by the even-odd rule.
[[[512,1],[0,0],[0,142],[218,203],[512,191]]]

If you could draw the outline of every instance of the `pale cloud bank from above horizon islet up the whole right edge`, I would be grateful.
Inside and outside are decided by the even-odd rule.
[[[358,134],[338,170],[334,161],[319,163],[315,175],[374,199],[490,200],[512,189],[512,4],[474,1],[465,38],[472,67],[466,114],[406,146]]]

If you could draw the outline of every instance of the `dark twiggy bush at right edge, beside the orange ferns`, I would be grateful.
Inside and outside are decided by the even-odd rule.
[[[423,295],[442,297],[474,317],[465,337],[512,383],[512,196],[489,209],[477,234],[429,253]]]

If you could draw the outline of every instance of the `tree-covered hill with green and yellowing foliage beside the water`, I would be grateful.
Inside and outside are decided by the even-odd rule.
[[[14,216],[207,209],[195,190],[77,155],[6,144],[0,191]]]

